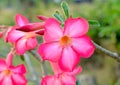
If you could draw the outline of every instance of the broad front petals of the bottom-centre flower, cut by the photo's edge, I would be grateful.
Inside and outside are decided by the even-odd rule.
[[[60,74],[59,76],[45,76],[41,85],[76,85],[74,76],[67,74]]]

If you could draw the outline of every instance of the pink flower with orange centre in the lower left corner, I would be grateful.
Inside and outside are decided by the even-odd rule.
[[[6,60],[0,58],[0,85],[26,85],[26,69],[23,64],[13,66],[12,57],[10,53]]]

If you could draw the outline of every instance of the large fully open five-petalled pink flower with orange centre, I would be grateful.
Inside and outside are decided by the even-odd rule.
[[[49,18],[45,23],[45,43],[38,52],[43,60],[58,62],[62,70],[72,71],[80,57],[89,58],[94,52],[94,45],[86,35],[88,22],[83,18],[69,18],[62,29],[60,23]]]

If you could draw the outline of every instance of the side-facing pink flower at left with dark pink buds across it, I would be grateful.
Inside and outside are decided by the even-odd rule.
[[[29,23],[20,14],[16,15],[16,23],[17,26],[8,30],[5,40],[15,45],[17,54],[23,55],[27,50],[37,46],[36,36],[43,34],[43,23]]]

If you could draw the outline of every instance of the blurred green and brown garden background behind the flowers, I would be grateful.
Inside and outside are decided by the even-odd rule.
[[[37,15],[53,17],[57,10],[63,14],[61,1],[68,3],[73,17],[98,20],[101,26],[90,28],[88,35],[99,45],[120,52],[120,0],[0,0],[0,25],[15,25],[14,16],[17,13],[23,14],[31,22],[40,21]],[[0,46],[0,56],[5,57],[10,45],[1,39]],[[32,62],[40,76],[40,64],[34,58]],[[24,62],[16,57],[14,63],[17,65]],[[120,85],[120,64],[104,53],[96,50],[90,59],[81,59],[80,65],[83,72],[78,75],[78,79],[81,75],[87,74],[94,76],[95,85]],[[52,73],[50,66],[47,67],[49,73]]]

